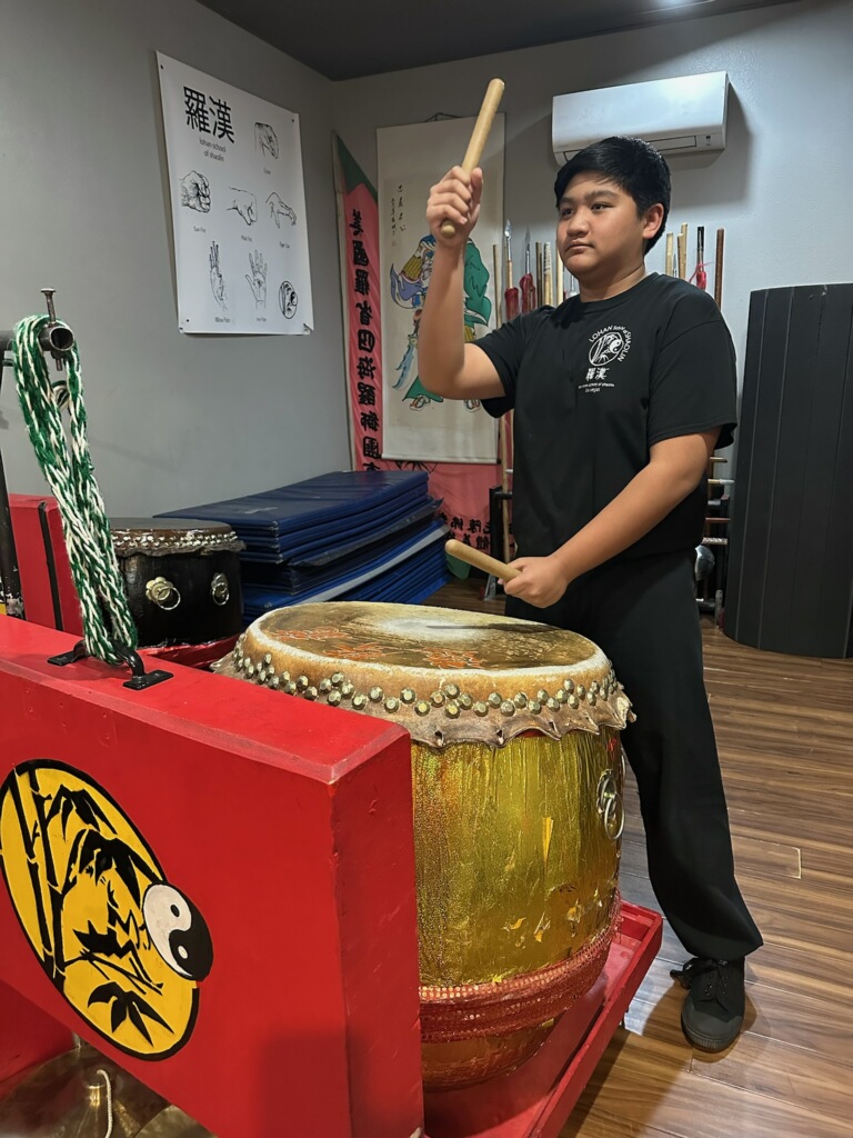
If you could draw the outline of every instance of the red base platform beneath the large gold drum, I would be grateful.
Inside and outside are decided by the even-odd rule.
[[[622,927],[596,983],[517,1071],[424,1097],[425,1138],[557,1138],[655,958],[663,920],[622,902]]]

